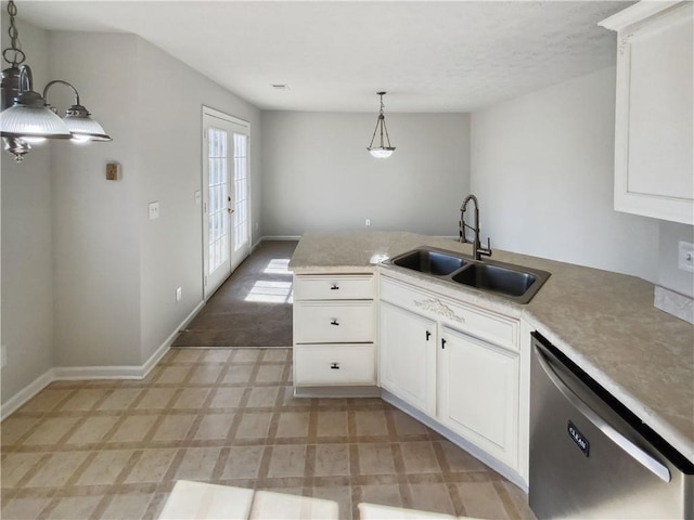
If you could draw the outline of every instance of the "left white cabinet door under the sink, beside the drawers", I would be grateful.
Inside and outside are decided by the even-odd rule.
[[[422,412],[436,414],[436,322],[381,303],[381,386]]]

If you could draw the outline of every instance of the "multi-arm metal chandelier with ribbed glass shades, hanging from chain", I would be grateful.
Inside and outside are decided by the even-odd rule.
[[[14,23],[17,8],[13,0],[8,3],[8,14],[11,47],[2,51],[2,57],[10,67],[2,70],[0,113],[4,150],[21,162],[31,150],[33,143],[47,139],[70,139],[74,142],[112,141],[101,125],[90,117],[89,110],[79,103],[77,89],[67,81],[50,81],[43,89],[43,95],[34,91],[31,69],[28,65],[23,65],[26,55],[22,51],[20,34]],[[50,88],[57,83],[69,87],[75,94],[75,104],[65,110],[62,119],[57,116],[57,110],[46,101]]]

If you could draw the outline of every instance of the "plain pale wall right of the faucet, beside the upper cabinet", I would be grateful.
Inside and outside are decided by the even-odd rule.
[[[655,282],[656,220],[613,209],[615,69],[472,115],[471,186],[492,248]]]

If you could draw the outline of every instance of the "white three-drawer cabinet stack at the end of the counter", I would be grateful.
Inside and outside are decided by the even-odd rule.
[[[374,386],[375,283],[367,275],[294,276],[294,386]]]

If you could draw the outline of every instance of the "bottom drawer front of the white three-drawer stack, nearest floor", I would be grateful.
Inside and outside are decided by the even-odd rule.
[[[294,348],[294,385],[375,385],[373,344],[307,344]]]

